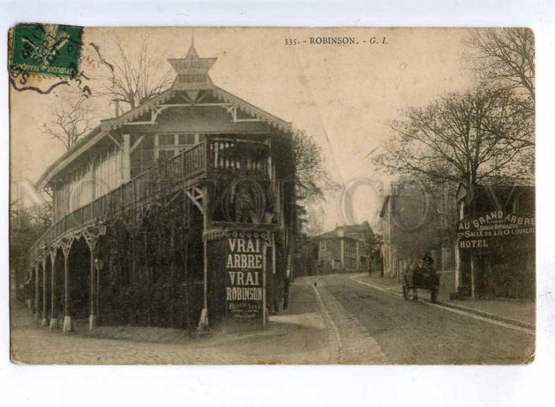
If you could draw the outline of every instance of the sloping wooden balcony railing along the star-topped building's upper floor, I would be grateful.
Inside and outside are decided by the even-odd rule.
[[[184,182],[238,172],[267,177],[268,154],[268,146],[260,141],[207,137],[160,166],[133,177],[117,189],[60,218],[35,242],[30,257],[36,258],[56,239],[94,225],[96,220],[137,209],[157,194],[185,187]]]

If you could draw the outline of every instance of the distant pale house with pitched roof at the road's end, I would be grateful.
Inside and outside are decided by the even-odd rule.
[[[337,226],[312,238],[315,244],[315,274],[368,271],[368,236],[373,234],[368,222]]]

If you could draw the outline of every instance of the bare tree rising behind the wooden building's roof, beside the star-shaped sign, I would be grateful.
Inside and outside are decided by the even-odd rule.
[[[91,43],[93,55],[99,66],[104,67],[99,79],[103,82],[96,90],[97,96],[110,101],[124,103],[130,109],[151,100],[164,92],[173,81],[171,69],[160,71],[157,67],[159,58],[154,58],[148,49],[148,39],[142,41],[138,55],[115,40],[117,53],[114,57],[104,55],[101,47]]]

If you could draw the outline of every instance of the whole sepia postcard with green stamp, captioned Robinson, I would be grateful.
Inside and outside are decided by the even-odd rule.
[[[528,28],[9,33],[14,363],[526,364]]]

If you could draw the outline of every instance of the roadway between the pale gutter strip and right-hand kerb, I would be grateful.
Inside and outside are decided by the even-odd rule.
[[[383,363],[384,358],[386,363],[425,365],[533,360],[535,336],[530,329],[404,301],[353,276],[311,277],[339,331],[344,363]],[[366,352],[357,350],[361,348]]]

